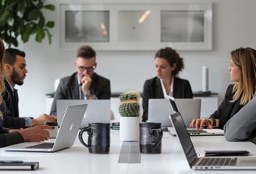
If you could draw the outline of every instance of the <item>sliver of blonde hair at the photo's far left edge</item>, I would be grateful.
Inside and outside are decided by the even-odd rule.
[[[2,92],[5,90],[5,84],[4,84],[4,66],[3,66],[3,59],[5,56],[5,45],[2,42],[2,39],[0,38],[0,104],[2,104]],[[0,112],[0,117],[2,117],[2,113]]]

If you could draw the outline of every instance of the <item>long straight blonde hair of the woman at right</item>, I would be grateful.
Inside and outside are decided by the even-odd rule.
[[[240,47],[231,52],[231,58],[241,71],[241,78],[233,86],[233,100],[240,99],[240,105],[245,105],[254,96],[256,89],[256,50],[250,47]]]

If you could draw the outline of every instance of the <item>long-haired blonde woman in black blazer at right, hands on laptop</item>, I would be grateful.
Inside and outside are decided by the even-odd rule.
[[[231,52],[229,85],[218,110],[209,119],[194,119],[190,127],[218,127],[223,129],[226,122],[244,107],[254,96],[256,89],[256,50],[240,47]]]

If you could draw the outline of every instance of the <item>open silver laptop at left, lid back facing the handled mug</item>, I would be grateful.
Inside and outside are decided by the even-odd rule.
[[[0,148],[2,151],[55,152],[74,144],[87,104],[67,106],[55,142],[24,142]]]

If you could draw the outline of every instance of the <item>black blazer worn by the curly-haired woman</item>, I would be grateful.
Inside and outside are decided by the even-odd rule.
[[[173,80],[173,97],[174,98],[193,98],[193,92],[190,82],[182,78]],[[148,99],[164,99],[162,85],[158,77],[148,79],[144,82],[142,95],[143,115],[142,120],[148,120]]]

